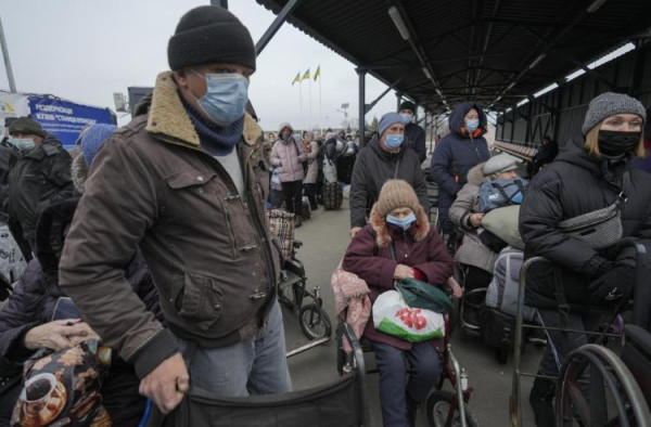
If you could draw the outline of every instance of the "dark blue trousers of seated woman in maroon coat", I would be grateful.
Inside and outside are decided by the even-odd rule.
[[[411,350],[372,342],[380,371],[380,404],[384,427],[407,427],[407,402],[422,403],[441,376],[441,357],[431,342],[418,342]],[[411,372],[407,380],[405,358]]]

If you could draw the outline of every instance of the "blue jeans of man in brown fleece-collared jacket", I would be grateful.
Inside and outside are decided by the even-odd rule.
[[[228,347],[197,348],[179,338],[190,366],[190,384],[219,396],[281,393],[292,390],[278,300],[256,336]]]

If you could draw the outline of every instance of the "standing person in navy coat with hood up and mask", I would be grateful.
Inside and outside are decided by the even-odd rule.
[[[470,169],[488,160],[490,153],[484,137],[486,115],[482,107],[472,102],[459,104],[449,118],[450,133],[434,148],[431,176],[438,184],[438,224],[449,233],[448,209],[457,192],[465,184]]]

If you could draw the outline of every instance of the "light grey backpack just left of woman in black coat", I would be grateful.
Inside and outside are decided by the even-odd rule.
[[[520,269],[523,262],[524,253],[522,250],[507,246],[499,253],[499,256],[495,260],[493,280],[486,292],[486,306],[515,316]],[[534,309],[524,307],[523,318],[526,321],[532,321],[534,319]]]

